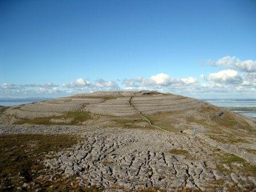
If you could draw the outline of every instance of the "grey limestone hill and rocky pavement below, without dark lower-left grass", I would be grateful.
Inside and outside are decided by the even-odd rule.
[[[101,91],[0,112],[1,134],[79,135],[77,144],[43,159],[49,170],[60,170],[55,175],[76,175],[71,182],[79,187],[222,191],[256,185],[256,120],[194,98]]]

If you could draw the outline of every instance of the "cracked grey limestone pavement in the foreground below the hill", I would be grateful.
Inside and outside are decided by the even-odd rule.
[[[159,130],[87,129],[83,137],[84,142],[45,161],[51,169],[78,175],[80,185],[130,190],[157,187],[170,191],[177,187],[222,191],[239,183],[255,185],[254,177],[218,171],[209,155],[213,147],[202,145],[201,139],[193,135]],[[175,154],[172,149],[187,153]]]

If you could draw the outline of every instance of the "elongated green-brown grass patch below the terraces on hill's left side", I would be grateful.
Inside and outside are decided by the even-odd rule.
[[[51,120],[63,120],[62,122],[54,122]],[[71,121],[69,121],[71,119]],[[40,117],[34,119],[21,119],[15,122],[16,125],[31,124],[31,125],[79,125],[84,121],[91,119],[89,112],[68,112],[61,116]],[[67,121],[65,121],[67,120]]]

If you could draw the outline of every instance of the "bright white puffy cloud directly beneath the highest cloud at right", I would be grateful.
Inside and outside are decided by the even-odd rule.
[[[222,70],[218,73],[209,74],[209,81],[215,83],[238,84],[242,83],[242,78],[235,70]]]

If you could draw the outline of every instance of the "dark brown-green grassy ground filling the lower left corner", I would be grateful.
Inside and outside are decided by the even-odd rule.
[[[0,191],[34,191],[23,187],[23,183],[34,182],[35,188],[49,191],[52,182],[38,179],[48,173],[42,164],[45,155],[73,146],[81,138],[75,135],[12,134],[0,137]],[[53,157],[53,155],[52,155]],[[22,183],[22,184],[21,184]],[[62,181],[62,185],[63,185]],[[11,186],[8,188],[8,186]],[[44,190],[43,190],[44,189]],[[53,190],[62,191],[62,190]]]

